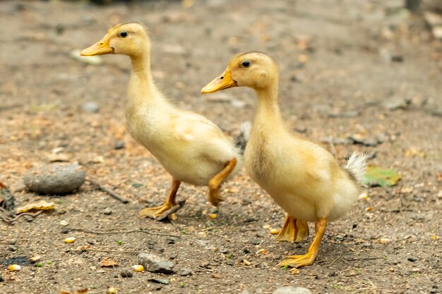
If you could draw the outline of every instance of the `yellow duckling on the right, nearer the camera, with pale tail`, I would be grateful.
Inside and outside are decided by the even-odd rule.
[[[241,86],[253,88],[258,97],[244,164],[251,178],[287,212],[277,240],[299,242],[309,234],[307,221],[315,222],[316,234],[307,254],[286,257],[280,265],[313,264],[328,221],[343,216],[358,198],[366,154],[352,154],[341,168],[328,151],[285,128],[277,97],[279,73],[267,54],[233,56],[225,72],[201,92]]]

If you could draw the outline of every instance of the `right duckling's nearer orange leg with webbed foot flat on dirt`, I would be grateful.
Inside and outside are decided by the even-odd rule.
[[[318,255],[319,245],[321,245],[321,240],[323,238],[325,227],[327,226],[327,219],[318,219],[315,223],[315,238],[313,243],[309,247],[309,251],[306,255],[290,255],[286,257],[282,262],[279,263],[281,267],[305,267],[306,265],[311,265]]]

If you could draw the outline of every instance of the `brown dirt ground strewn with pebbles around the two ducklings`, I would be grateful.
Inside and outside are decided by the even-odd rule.
[[[1,1],[0,181],[17,204],[47,200],[56,209],[30,222],[0,221],[0,293],[107,293],[109,287],[118,293],[273,293],[289,285],[312,293],[442,293],[442,46],[421,16],[397,4]],[[342,162],[353,150],[368,152],[371,164],[395,169],[402,180],[368,188],[369,199],[329,224],[316,263],[296,275],[277,262],[306,252],[313,234],[299,244],[276,243],[269,228],[280,228],[284,213],[246,171],[223,186],[219,211],[208,202],[207,188],[184,184],[179,200],[187,203],[175,223],[138,219],[143,207],[165,200],[170,176],[126,133],[129,60],[102,56],[91,65],[71,57],[128,20],[149,28],[155,80],[182,109],[238,133],[239,123],[253,117],[253,91],[237,88],[208,99],[199,90],[232,54],[265,51],[279,63],[282,114],[294,132],[328,149],[324,138],[338,140]],[[97,103],[99,111],[85,111],[85,102]],[[374,144],[340,140],[351,136]],[[117,140],[123,149],[114,148]],[[63,197],[25,190],[25,171],[57,152],[102,183],[134,191],[114,188],[129,204],[88,183]],[[76,242],[65,244],[66,237]],[[76,250],[80,246],[97,251]],[[121,277],[137,263],[136,252],[170,259],[176,274]],[[35,255],[41,267],[26,263]],[[21,271],[6,269],[14,257],[25,259]],[[118,266],[101,267],[103,259]],[[181,276],[182,268],[191,276]]]

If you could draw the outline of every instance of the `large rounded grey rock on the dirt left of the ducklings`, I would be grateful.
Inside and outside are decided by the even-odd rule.
[[[64,195],[80,188],[85,178],[86,172],[78,164],[54,163],[29,169],[24,181],[32,192]]]

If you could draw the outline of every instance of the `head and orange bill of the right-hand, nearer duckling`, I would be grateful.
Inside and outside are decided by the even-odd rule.
[[[201,89],[201,93],[213,93],[230,87],[251,87],[263,90],[277,86],[279,74],[275,61],[263,52],[243,52],[233,56],[227,69]]]

